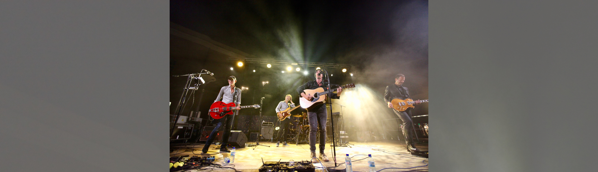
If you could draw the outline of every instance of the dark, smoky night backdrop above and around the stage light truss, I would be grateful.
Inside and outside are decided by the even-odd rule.
[[[170,1],[170,21],[249,58],[355,65],[352,81],[379,94],[403,73],[412,97],[428,99],[428,1]],[[187,74],[173,73],[172,51],[171,74]]]

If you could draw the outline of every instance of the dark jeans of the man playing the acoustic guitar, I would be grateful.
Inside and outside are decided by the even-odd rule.
[[[328,113],[326,112],[327,109],[325,105],[318,106],[307,111],[307,119],[309,120],[309,151],[316,151],[316,134],[318,134],[319,131],[320,153],[324,153],[324,148],[326,147],[326,118],[328,117]]]

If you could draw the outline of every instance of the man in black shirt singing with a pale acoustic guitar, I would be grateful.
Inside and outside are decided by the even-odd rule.
[[[309,101],[313,100],[313,96],[305,94],[303,90],[313,90],[318,87],[324,88],[325,91],[328,90],[328,87],[322,84],[322,69],[316,70],[314,75],[316,77],[315,81],[308,81],[305,84],[301,85],[299,88],[297,88],[297,92],[301,94],[301,97]],[[343,91],[343,88],[338,87],[336,94],[329,93],[330,98],[340,99],[341,91]],[[328,113],[326,111],[325,104],[316,105],[313,107],[313,109],[307,110],[307,120],[309,121],[309,150],[312,152],[311,157],[313,163],[318,163],[318,160],[313,158],[316,157],[316,134],[318,134],[318,127],[320,128],[319,159],[329,161],[328,156],[326,156],[326,154],[324,153],[324,148],[326,146],[326,118],[328,117],[327,115]]]

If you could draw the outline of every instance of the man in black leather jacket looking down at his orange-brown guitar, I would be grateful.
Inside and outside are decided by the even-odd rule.
[[[402,86],[403,82],[405,82],[405,75],[395,75],[395,84],[386,86],[386,90],[384,91],[384,101],[386,102],[388,108],[392,108],[392,110],[395,111],[396,115],[399,116],[399,118],[401,118],[401,121],[403,121],[403,130],[405,131],[404,133],[405,143],[407,144],[407,151],[419,151],[417,148],[415,148],[415,145],[413,144],[413,131],[411,130],[413,128],[413,121],[411,121],[412,108],[408,108],[403,112],[399,112],[395,110],[394,106],[392,106],[392,103],[390,103],[392,99],[411,99],[411,97],[409,96],[409,89],[407,87]],[[419,102],[419,100],[417,100],[415,101],[415,103],[416,105],[419,105],[422,102]]]

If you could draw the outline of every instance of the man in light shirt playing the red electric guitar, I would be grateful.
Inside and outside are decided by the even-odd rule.
[[[241,89],[234,87],[234,83],[236,82],[237,78],[235,78],[234,76],[228,76],[228,85],[220,89],[220,93],[218,93],[218,97],[216,97],[216,100],[214,102],[234,102],[234,104],[237,105],[236,109],[241,109]],[[235,115],[237,114],[235,113]],[[220,146],[220,153],[230,152],[226,148],[226,146],[228,145],[228,136],[230,136],[230,130],[233,127],[233,115],[226,115],[223,118],[215,120],[218,122],[218,124],[216,124],[214,130],[212,130],[212,133],[210,133],[208,141],[206,141],[206,145],[203,146],[202,153],[208,152],[208,148],[210,148],[210,145],[212,145],[212,141],[214,141],[216,135],[218,134],[218,131],[220,130],[220,127],[222,127],[222,124],[224,124],[224,134],[222,134],[222,145]]]

